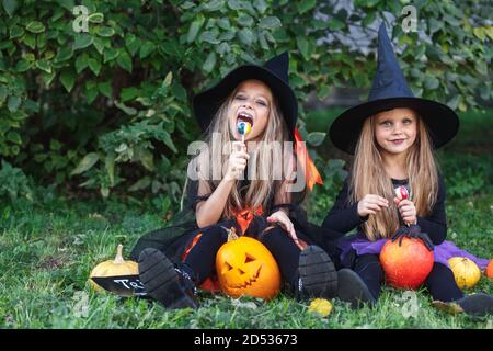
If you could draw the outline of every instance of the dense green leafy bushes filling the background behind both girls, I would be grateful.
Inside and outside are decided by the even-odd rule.
[[[461,111],[477,106],[477,92],[489,99],[485,5],[415,5],[427,38],[402,32],[398,1],[357,0],[349,9],[311,0],[3,0],[0,157],[37,183],[174,201],[186,146],[199,138],[194,93],[241,63],[284,50],[300,102],[313,90],[323,98],[332,87],[367,88],[375,54],[351,33],[359,29],[375,47],[375,24],[389,14],[416,94]],[[83,23],[88,32],[79,31]],[[306,131],[301,106],[301,134],[319,145],[324,135]]]

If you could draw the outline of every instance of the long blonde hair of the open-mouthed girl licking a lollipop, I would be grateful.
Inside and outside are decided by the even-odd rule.
[[[216,115],[213,118],[213,122],[207,129],[205,141],[210,154],[207,155],[207,152],[200,152],[200,155],[198,156],[198,163],[200,165],[200,169],[211,170],[207,167],[207,165],[205,165],[205,162],[209,162],[210,155],[213,157],[220,157],[220,163],[217,162],[218,160],[216,160],[216,163],[221,165],[221,167],[222,165],[226,165],[229,158],[230,154],[223,154],[222,151],[225,149],[225,144],[228,141],[232,141],[228,111],[237,91],[238,87],[218,109]],[[213,135],[215,133],[219,133],[221,135],[221,143],[213,143]],[[289,134],[286,123],[284,122],[284,117],[280,109],[278,107],[277,101],[275,97],[273,97],[267,117],[267,125],[257,141],[270,144],[272,141],[288,140]],[[257,147],[254,149],[253,154],[250,150],[249,154],[249,166],[255,165],[254,169],[249,169],[249,174],[254,174],[254,177],[252,177],[253,180],[251,180],[250,185],[246,190],[246,194],[244,196],[240,196],[238,186],[232,188],[228,196],[225,211],[222,213],[222,215],[226,217],[231,217],[234,214],[234,210],[237,208],[255,208],[257,206],[262,206],[263,210],[266,211],[268,208],[268,205],[271,204],[271,201],[282,189],[285,177],[284,172],[282,180],[273,180],[271,177],[267,177],[267,180],[265,180],[266,174],[272,174],[274,165],[278,163],[278,160],[273,159],[270,148]],[[210,180],[210,171],[209,174],[202,173],[202,177],[204,177],[202,179],[205,180],[205,183],[207,185],[207,193],[211,193],[220,183],[220,180]]]

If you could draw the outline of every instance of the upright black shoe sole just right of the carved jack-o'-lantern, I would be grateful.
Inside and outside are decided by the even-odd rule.
[[[329,256],[318,246],[309,246],[299,256],[297,299],[332,298],[337,292],[337,273]]]

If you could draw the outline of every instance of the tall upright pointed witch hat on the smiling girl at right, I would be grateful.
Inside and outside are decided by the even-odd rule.
[[[433,147],[439,148],[454,138],[459,117],[447,105],[415,98],[408,88],[385,24],[378,30],[378,68],[368,101],[343,112],[331,125],[329,135],[339,149],[354,154],[365,120],[379,112],[408,107],[426,123]]]

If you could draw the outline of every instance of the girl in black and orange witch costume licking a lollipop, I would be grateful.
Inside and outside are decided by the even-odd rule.
[[[298,105],[287,72],[288,56],[283,54],[263,67],[234,69],[194,99],[195,115],[207,132],[188,167],[187,203],[195,218],[144,236],[133,251],[147,293],[164,306],[197,307],[195,287],[214,286],[216,253],[230,227],[267,247],[298,298],[335,296],[337,273],[330,257],[308,245],[306,233],[317,236],[317,228],[299,207],[305,192],[289,191],[291,173],[283,172],[276,180],[271,174],[283,167],[296,171],[301,157],[307,161],[299,165],[306,170],[301,176],[321,179],[302,144],[296,145],[298,158],[290,151],[285,160],[272,157],[262,145],[300,140],[295,127]],[[245,136],[238,132],[240,122],[251,126]]]

